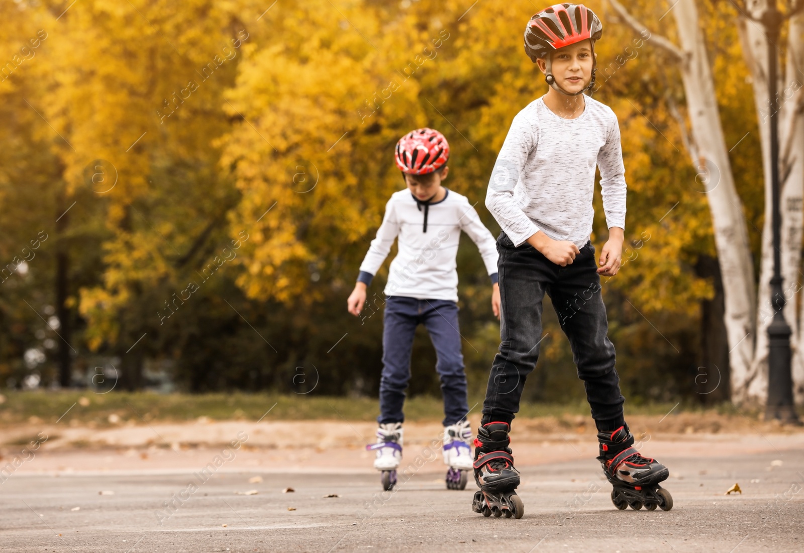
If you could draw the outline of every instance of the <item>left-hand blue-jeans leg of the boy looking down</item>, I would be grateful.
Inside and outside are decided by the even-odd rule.
[[[402,407],[410,380],[410,355],[419,315],[418,300],[392,296],[383,315],[383,374],[379,379],[379,424],[404,421]]]

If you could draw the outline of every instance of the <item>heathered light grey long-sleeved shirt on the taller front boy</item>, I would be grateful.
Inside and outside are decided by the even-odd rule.
[[[595,166],[609,228],[626,227],[626,178],[617,116],[585,98],[564,119],[539,98],[519,112],[494,164],[486,207],[515,246],[537,231],[581,248],[592,232]]]

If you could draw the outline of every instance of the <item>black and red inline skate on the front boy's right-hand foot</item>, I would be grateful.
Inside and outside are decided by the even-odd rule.
[[[673,496],[658,485],[667,480],[670,472],[666,466],[642,457],[631,447],[634,435],[628,431],[627,425],[614,432],[598,432],[597,439],[601,444],[597,460],[601,461],[605,477],[613,485],[611,501],[617,509],[630,507],[640,510],[642,506],[647,510],[673,508]]]

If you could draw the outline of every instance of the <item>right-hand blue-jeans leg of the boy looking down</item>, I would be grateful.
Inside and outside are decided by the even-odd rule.
[[[436,371],[444,395],[444,426],[466,417],[469,403],[466,398],[466,372],[461,354],[461,333],[458,330],[457,303],[445,300],[420,300],[422,322],[436,349]]]

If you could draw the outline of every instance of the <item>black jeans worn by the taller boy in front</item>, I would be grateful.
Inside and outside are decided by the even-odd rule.
[[[620,379],[614,369],[614,346],[606,335],[609,322],[601,297],[595,248],[588,242],[572,264],[552,263],[530,244],[514,248],[501,233],[499,285],[503,314],[500,348],[489,375],[483,423],[511,422],[527,375],[539,358],[542,339],[542,299],[547,293],[558,314],[561,330],[569,338],[578,377],[598,430],[615,430],[624,423]]]

